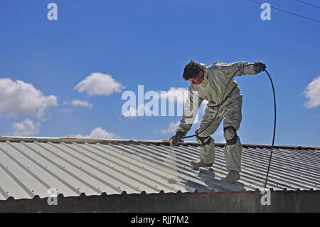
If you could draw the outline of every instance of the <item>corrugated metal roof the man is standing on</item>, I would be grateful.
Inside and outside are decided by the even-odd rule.
[[[66,196],[146,194],[261,189],[270,147],[244,145],[241,179],[225,177],[223,144],[216,144],[213,168],[193,169],[199,147],[189,143],[170,149],[166,142],[103,139],[0,137],[0,200],[48,197],[50,188]],[[268,188],[319,190],[320,148],[274,149]]]

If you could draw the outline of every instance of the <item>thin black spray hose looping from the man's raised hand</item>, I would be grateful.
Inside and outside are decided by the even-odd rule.
[[[238,70],[236,70],[235,73],[238,73],[239,70],[241,70],[242,68],[245,68],[246,66],[250,66],[250,65],[254,65],[254,64],[244,65],[244,66],[238,68]],[[267,72],[267,70],[264,70],[264,71],[265,71],[265,73],[267,73],[267,75],[269,76],[270,83],[271,83],[271,85],[272,85],[273,100],[274,100],[274,127],[273,127],[273,137],[272,137],[272,146],[271,146],[270,159],[269,159],[269,164],[268,164],[268,169],[267,169],[267,176],[266,176],[266,178],[265,178],[265,186],[264,186],[264,187],[266,187],[266,186],[267,186],[267,179],[268,179],[269,171],[270,171],[270,164],[271,164],[271,159],[272,159],[272,152],[273,152],[273,147],[274,147],[274,137],[275,137],[275,132],[276,132],[276,120],[277,120],[277,107],[276,107],[276,99],[275,99],[274,86],[273,86],[273,83],[272,83],[271,76],[270,76],[270,74]],[[217,112],[215,112],[215,116],[213,117],[213,120],[212,120],[211,122],[209,122],[208,125],[206,125],[206,127],[205,127],[203,130],[201,130],[201,132],[204,132],[205,130],[207,130],[208,127],[214,122],[215,117],[217,117],[218,112],[219,112],[219,110],[220,110],[220,107],[221,107],[221,105],[223,104],[223,100],[224,100],[224,97],[225,97],[225,92],[227,91],[228,86],[229,86],[231,80],[233,80],[233,78],[234,78],[234,76],[235,76],[235,73],[233,73],[233,76],[230,78],[227,86],[225,87],[225,91],[224,91],[224,93],[223,93],[223,97],[222,97],[221,102],[220,102],[220,104],[219,104],[219,106],[218,106]],[[193,134],[193,135],[191,135],[191,136],[185,136],[185,137],[183,137],[182,139],[191,138],[191,137],[196,137],[196,136],[197,136],[198,134],[200,134],[201,132],[198,132],[198,133]]]

